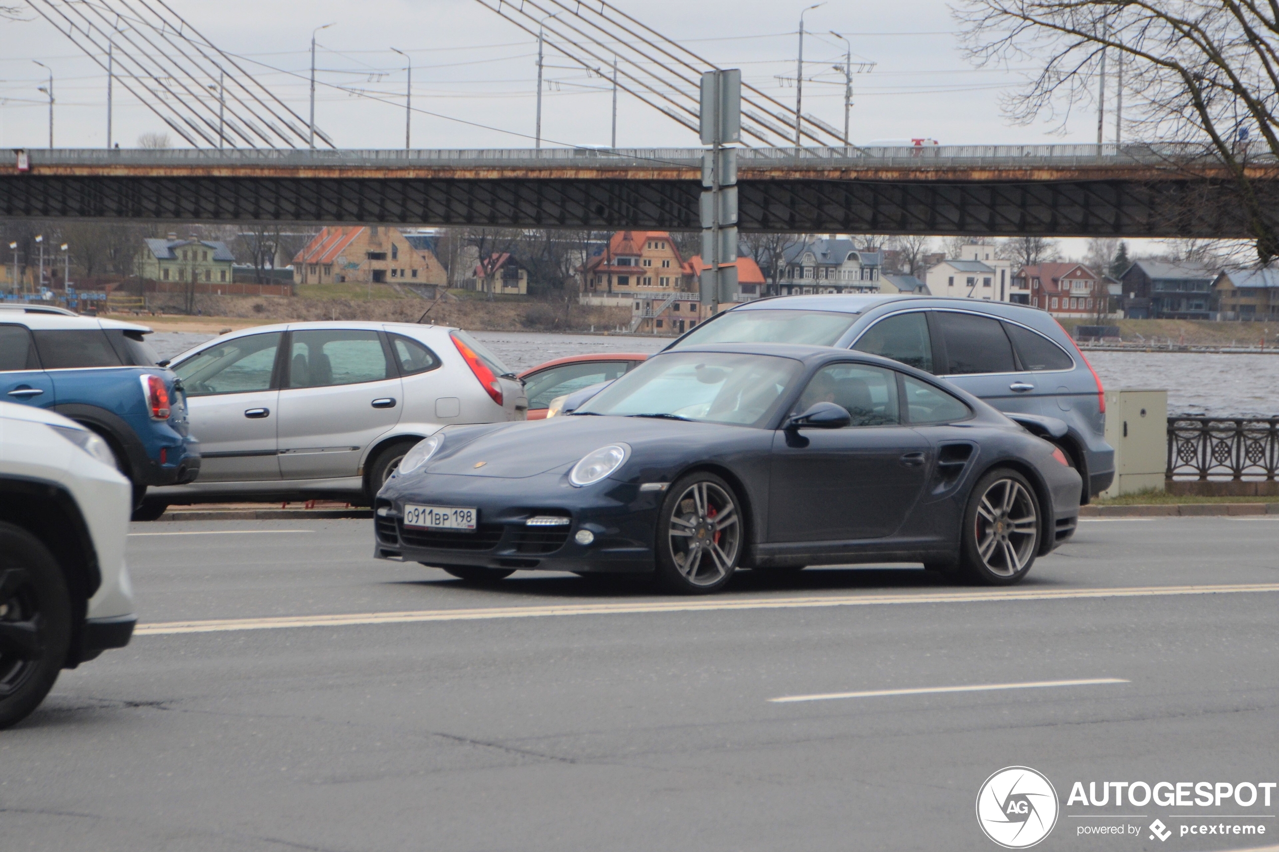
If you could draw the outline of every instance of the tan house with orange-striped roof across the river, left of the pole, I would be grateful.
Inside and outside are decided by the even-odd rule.
[[[448,284],[434,252],[417,248],[398,229],[380,225],[326,227],[293,258],[294,284]]]

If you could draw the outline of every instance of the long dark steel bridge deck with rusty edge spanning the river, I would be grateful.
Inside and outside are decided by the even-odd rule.
[[[743,231],[1247,238],[1184,146],[742,148]],[[0,218],[698,230],[701,149],[31,149]],[[1248,166],[1279,203],[1279,164]]]

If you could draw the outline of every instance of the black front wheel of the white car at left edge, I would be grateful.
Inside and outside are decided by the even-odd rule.
[[[67,662],[67,580],[40,540],[0,522],[0,728],[40,706]]]

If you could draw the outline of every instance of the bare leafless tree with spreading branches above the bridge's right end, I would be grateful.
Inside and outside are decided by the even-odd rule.
[[[1175,170],[1224,178],[1257,261],[1279,254],[1279,209],[1255,162],[1279,156],[1279,4],[964,0],[955,15],[978,65],[1037,68],[1004,102],[1021,123],[1064,126],[1073,107],[1094,100],[1106,55],[1122,61],[1126,126],[1182,143],[1169,160]]]

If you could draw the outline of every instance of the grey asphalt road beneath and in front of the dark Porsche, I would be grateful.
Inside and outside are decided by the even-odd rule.
[[[995,849],[975,801],[1009,765],[1062,802],[1037,849],[1279,843],[1279,795],[1067,805],[1279,780],[1279,519],[1085,521],[1007,591],[826,568],[711,599],[471,589],[372,559],[368,521],[133,531],[139,635],[0,733],[4,852]],[[1062,681],[1091,682],[985,688]],[[1239,815],[1266,834],[1175,833]]]

